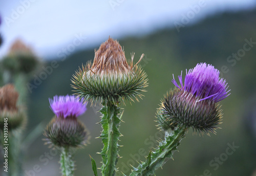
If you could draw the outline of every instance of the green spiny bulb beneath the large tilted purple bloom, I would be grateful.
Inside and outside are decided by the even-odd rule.
[[[161,102],[157,119],[163,130],[174,128],[177,125],[193,127],[196,131],[208,134],[215,133],[216,125],[222,118],[218,104],[209,99],[200,100],[183,90],[172,90]]]

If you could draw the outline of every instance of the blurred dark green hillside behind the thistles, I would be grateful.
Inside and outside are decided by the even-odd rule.
[[[256,113],[253,113],[256,107],[255,29],[256,10],[253,10],[211,16],[197,24],[180,28],[180,32],[175,28],[168,28],[141,37],[117,38],[120,45],[124,46],[127,59],[131,58],[132,52],[135,52],[135,61],[138,61],[142,53],[145,54],[140,64],[149,79],[143,100],[132,104],[127,102],[123,106],[125,110],[122,120],[125,123],[120,126],[123,135],[120,145],[123,147],[120,148],[122,158],[118,162],[121,171],[128,174],[130,164],[137,167],[134,158],[144,160],[141,153],[147,155],[161,137],[155,126],[155,113],[160,99],[174,87],[171,82],[173,74],[177,79],[183,71],[184,77],[186,69],[194,68],[199,62],[206,62],[222,71],[222,76],[231,89],[231,95],[221,102],[224,117],[219,127],[222,129],[218,129],[217,135],[212,134],[211,137],[193,135],[193,130],[189,130],[178,148],[179,152],[174,155],[175,160],[169,160],[163,169],[157,171],[157,175],[253,175],[256,170]],[[244,48],[245,43],[250,40],[250,45],[247,44]],[[232,53],[237,54],[237,59]],[[72,94],[72,75],[82,63],[93,58],[94,48],[72,53],[63,61],[53,58],[57,60],[58,67],[32,89],[29,95],[28,131],[40,122],[47,124],[50,121],[53,113],[49,108],[48,98],[56,94]],[[45,67],[49,65],[51,61]],[[33,84],[33,81],[30,83]],[[96,152],[101,150],[102,144],[100,139],[95,139],[101,130],[100,124],[96,124],[100,121],[100,114],[96,113],[99,108],[99,105],[88,105],[88,111],[80,117],[90,131],[91,140],[87,147],[79,149],[75,155],[75,175],[93,175],[89,154],[100,167],[101,158]],[[39,159],[50,150],[43,145],[42,138],[44,137],[40,136],[29,148],[26,170],[38,164],[42,168],[38,175],[51,176],[48,174],[50,171],[55,173],[52,175],[60,175],[58,156],[49,160],[48,164]],[[234,149],[231,155],[226,155],[229,145],[239,148]],[[220,158],[219,162],[216,158]]]

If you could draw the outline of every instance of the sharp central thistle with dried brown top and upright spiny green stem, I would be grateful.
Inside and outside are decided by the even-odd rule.
[[[142,54],[140,60],[143,58]],[[118,128],[120,118],[120,102],[124,100],[134,101],[141,98],[141,92],[147,86],[146,73],[138,65],[140,60],[134,65],[134,54],[131,62],[125,59],[124,51],[117,40],[109,38],[95,50],[93,64],[88,62],[82,69],[79,68],[73,75],[73,87],[76,95],[84,98],[84,101],[92,103],[102,103],[100,109],[102,114],[100,123],[102,124],[103,148],[102,175],[112,176],[116,172],[116,164],[119,157],[119,137]],[[93,171],[97,175],[95,162],[92,159]]]

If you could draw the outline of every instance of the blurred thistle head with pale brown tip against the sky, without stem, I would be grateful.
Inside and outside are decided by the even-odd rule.
[[[32,72],[37,65],[37,57],[22,40],[16,40],[11,46],[9,54],[3,59],[3,67],[10,72]]]

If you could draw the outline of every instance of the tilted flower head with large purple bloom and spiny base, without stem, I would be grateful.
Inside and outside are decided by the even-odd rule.
[[[173,79],[178,88],[167,93],[161,102],[157,115],[159,128],[185,125],[206,134],[215,133],[222,118],[217,102],[229,95],[226,80],[220,79],[219,74],[212,65],[200,63],[187,72],[184,85],[181,75],[181,85]]]

